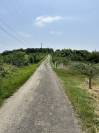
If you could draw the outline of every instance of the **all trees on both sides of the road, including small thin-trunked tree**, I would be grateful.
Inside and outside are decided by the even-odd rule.
[[[0,75],[6,74],[5,64],[15,67],[23,67],[29,64],[38,63],[46,55],[51,54],[54,64],[68,64],[69,61],[77,62],[75,68],[80,73],[89,78],[89,88],[91,87],[92,78],[99,73],[99,52],[89,52],[87,50],[62,49],[56,50],[49,48],[27,48],[12,51],[4,51],[0,54]],[[79,63],[78,63],[79,62]],[[92,65],[93,64],[93,65]]]

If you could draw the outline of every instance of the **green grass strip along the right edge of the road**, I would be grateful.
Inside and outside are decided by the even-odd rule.
[[[81,88],[85,77],[70,69],[55,69],[55,71],[63,81],[65,92],[81,119],[82,129],[88,133],[96,133],[96,126],[99,125],[94,113],[94,101],[88,91]]]

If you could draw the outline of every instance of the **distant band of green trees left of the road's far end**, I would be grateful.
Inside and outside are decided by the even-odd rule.
[[[44,55],[53,52],[52,49],[18,49],[13,51],[5,51],[0,56],[0,62],[12,64],[15,66],[24,66],[29,63],[36,63],[41,60]]]

